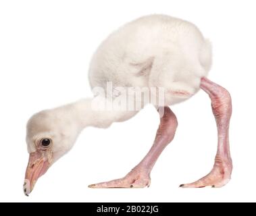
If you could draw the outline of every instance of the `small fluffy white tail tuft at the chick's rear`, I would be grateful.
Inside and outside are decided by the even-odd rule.
[[[211,55],[211,42],[205,39],[199,53],[199,61],[207,72],[211,69]]]

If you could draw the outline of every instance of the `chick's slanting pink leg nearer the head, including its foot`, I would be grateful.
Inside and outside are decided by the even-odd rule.
[[[91,184],[89,188],[145,188],[150,185],[150,173],[163,149],[173,140],[178,122],[169,107],[164,107],[155,142],[145,158],[124,178]],[[159,112],[160,113],[160,112]],[[161,113],[160,113],[161,115]]]

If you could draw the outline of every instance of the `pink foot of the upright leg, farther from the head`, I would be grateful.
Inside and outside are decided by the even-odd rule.
[[[208,175],[190,184],[181,184],[182,188],[204,188],[211,186],[213,188],[221,188],[231,179],[232,162],[215,161],[213,169]]]

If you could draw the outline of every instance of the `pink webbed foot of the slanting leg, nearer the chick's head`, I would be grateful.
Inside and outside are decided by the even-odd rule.
[[[91,184],[89,188],[145,188],[150,185],[150,177],[148,173],[134,168],[124,178],[112,180],[109,182],[101,182]]]

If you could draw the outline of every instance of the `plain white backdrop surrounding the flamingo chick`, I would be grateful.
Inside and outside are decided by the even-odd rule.
[[[255,1],[1,1],[1,201],[256,201]],[[29,197],[26,121],[33,113],[91,97],[93,52],[120,25],[147,14],[195,23],[213,43],[209,78],[230,90],[232,180],[224,188],[182,189],[208,173],[217,147],[210,101],[200,91],[172,107],[176,137],[151,173],[147,189],[91,189],[124,176],[147,153],[159,124],[151,106],[107,130],[86,128],[72,151],[39,179]]]

